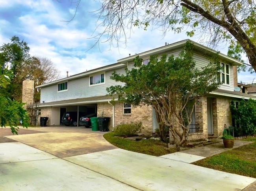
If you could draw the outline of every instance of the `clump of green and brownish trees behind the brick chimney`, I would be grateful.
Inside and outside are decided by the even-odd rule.
[[[6,88],[0,89],[0,95],[21,100],[23,80],[34,80],[34,86],[37,86],[59,78],[59,70],[50,59],[30,56],[29,50],[28,44],[17,36],[0,47],[1,68],[4,70],[9,65],[12,72],[11,82]],[[39,102],[40,90],[35,89],[34,93],[34,102]]]

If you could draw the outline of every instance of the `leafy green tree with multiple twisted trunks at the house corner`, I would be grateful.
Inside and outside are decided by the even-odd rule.
[[[169,127],[176,147],[187,144],[191,116],[198,98],[221,84],[217,82],[221,69],[217,59],[197,69],[192,48],[193,44],[187,42],[178,57],[151,56],[147,65],[137,56],[134,67],[126,68],[125,75],[114,72],[110,77],[124,85],[107,88],[109,95],[118,95],[122,102],[152,106],[156,110],[161,137],[164,127]]]

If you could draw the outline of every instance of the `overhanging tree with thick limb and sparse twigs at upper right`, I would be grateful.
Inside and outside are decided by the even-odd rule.
[[[81,0],[78,0],[79,6]],[[134,26],[161,28],[163,34],[186,31],[213,45],[239,44],[256,71],[255,0],[101,0],[98,27],[110,42],[125,37]]]

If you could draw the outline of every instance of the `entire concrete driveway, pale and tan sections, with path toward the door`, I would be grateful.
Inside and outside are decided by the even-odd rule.
[[[1,130],[16,142],[0,143],[0,190],[239,191],[256,180],[189,164],[205,157],[195,153],[156,157],[119,149],[91,129],[33,128],[39,133],[18,136]],[[100,151],[91,149],[96,145]]]

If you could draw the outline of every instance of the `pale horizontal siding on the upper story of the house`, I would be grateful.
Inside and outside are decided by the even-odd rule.
[[[174,55],[175,57],[178,56],[181,49],[172,51],[168,53],[168,56]],[[147,57],[148,58],[148,57]],[[147,59],[143,58],[143,59]],[[207,57],[194,53],[194,59],[196,62],[197,68],[202,68],[209,64],[209,60]],[[226,63],[228,64],[228,63]],[[126,65],[124,66],[126,67]],[[130,62],[128,64],[128,68],[131,69],[134,67],[134,63]],[[117,73],[124,73],[124,68],[116,70]],[[93,85],[89,86],[89,76],[70,80],[68,81],[68,90],[67,91],[59,91],[58,92],[58,84],[50,85],[47,87],[41,88],[41,102],[54,102],[60,100],[69,100],[75,98],[86,98],[92,96],[104,96],[107,94],[106,87],[111,85],[121,85],[120,82],[115,82],[114,80],[110,80],[110,76],[113,71],[106,71],[105,73],[105,84]],[[230,85],[221,85],[220,89],[234,91],[234,80],[233,80],[233,68],[230,65]]]

